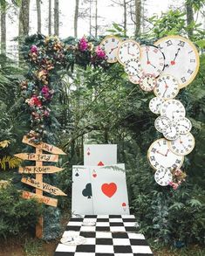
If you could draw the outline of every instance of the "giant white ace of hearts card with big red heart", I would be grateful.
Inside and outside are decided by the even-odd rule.
[[[129,214],[125,164],[92,168],[94,214]]]

